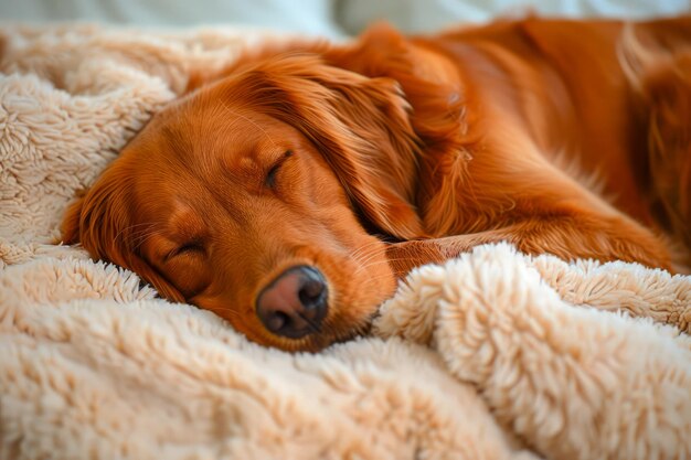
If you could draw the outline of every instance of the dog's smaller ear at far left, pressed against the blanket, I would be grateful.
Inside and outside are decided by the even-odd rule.
[[[141,228],[132,226],[127,175],[117,160],[94,186],[73,203],[61,226],[63,243],[81,245],[94,259],[128,268],[153,285],[162,297],[184,302],[184,296],[143,259],[137,248]],[[117,185],[117,186],[116,186]]]

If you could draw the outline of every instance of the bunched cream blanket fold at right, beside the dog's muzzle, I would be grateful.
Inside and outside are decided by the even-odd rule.
[[[588,307],[560,297],[555,280]],[[651,319],[688,327],[690,295],[688,278],[661,270],[498,245],[411,274],[378,329],[432,344],[546,458],[683,458],[691,340]],[[669,314],[674,307],[680,314]]]

